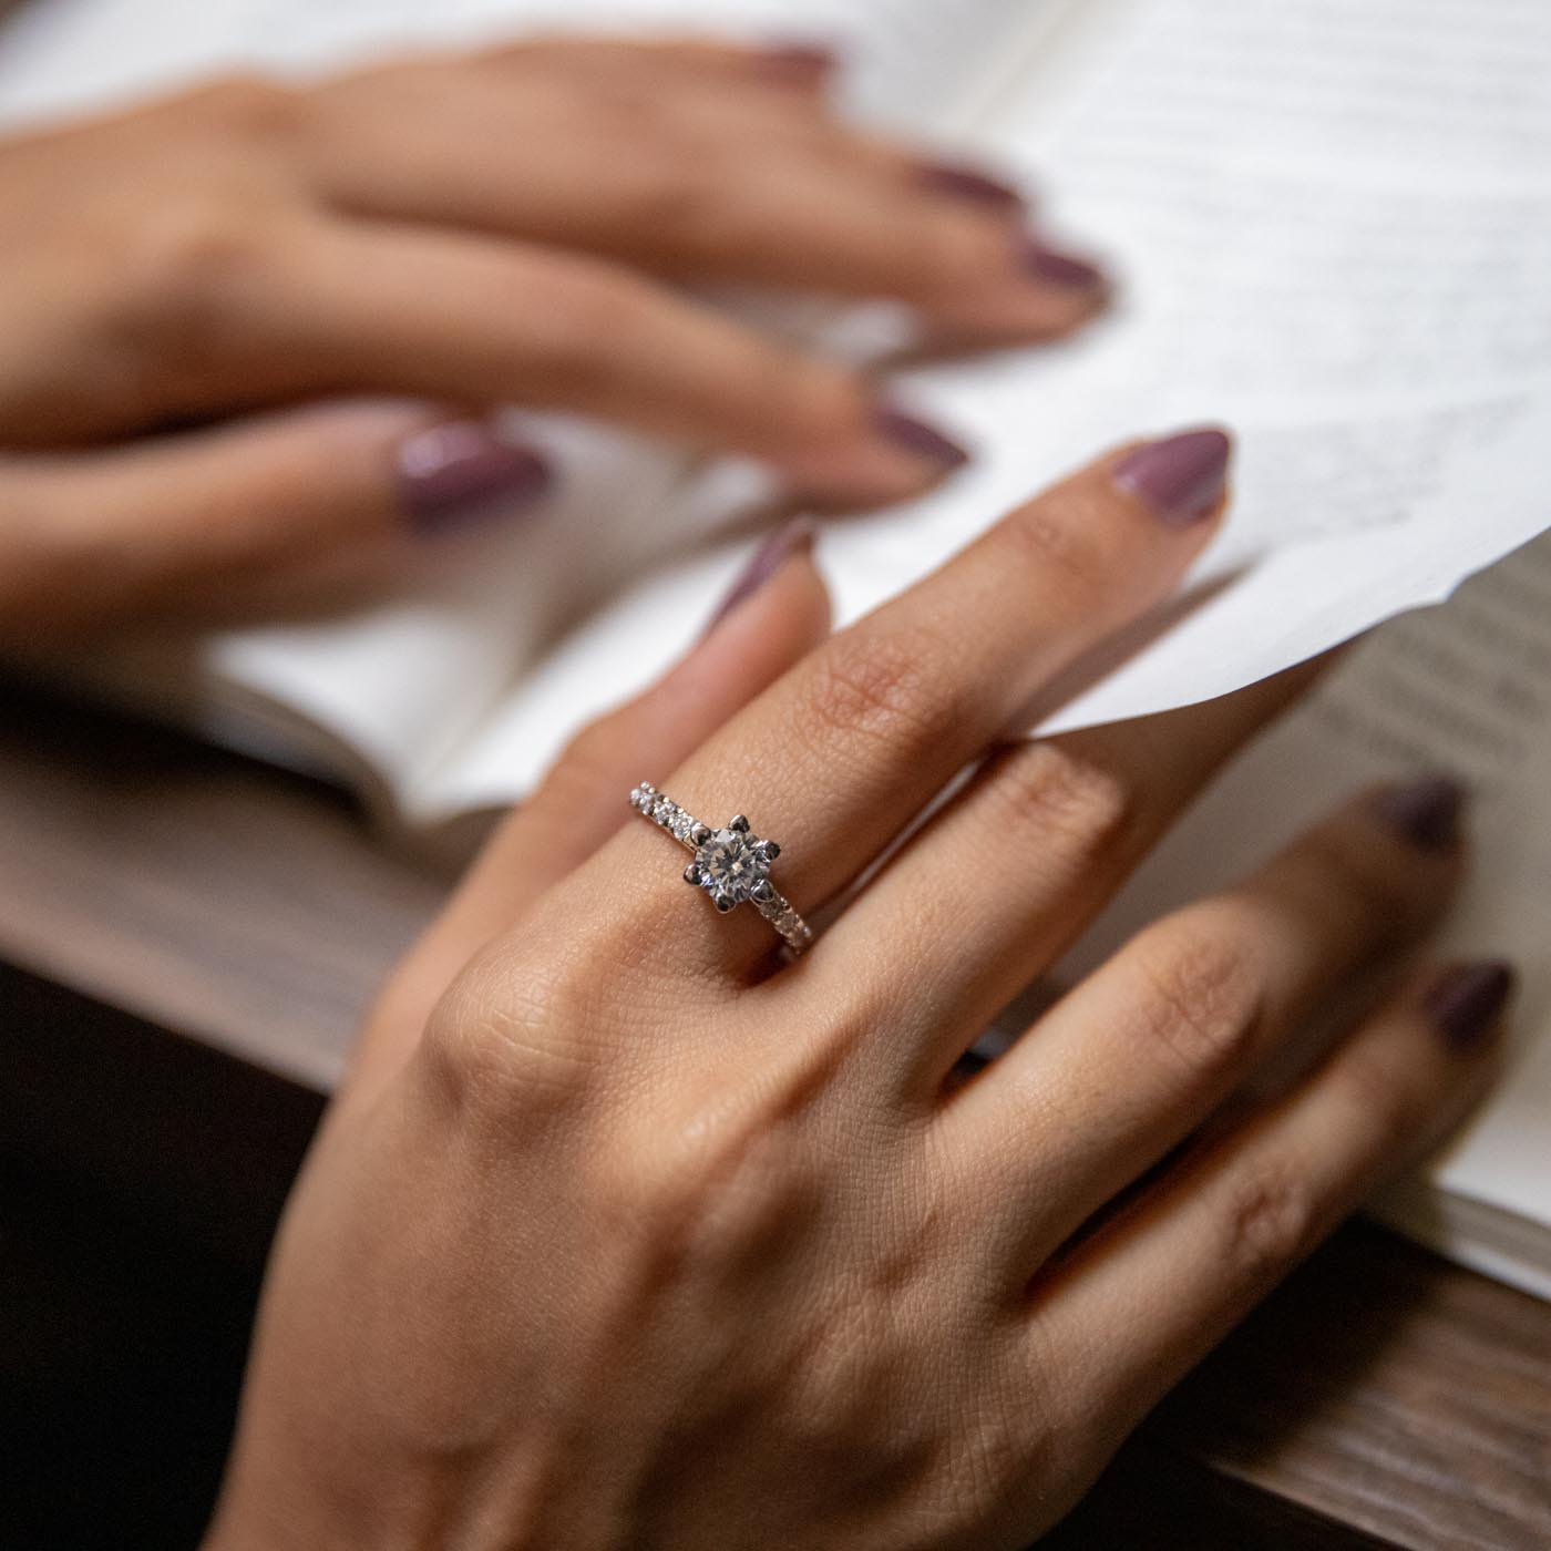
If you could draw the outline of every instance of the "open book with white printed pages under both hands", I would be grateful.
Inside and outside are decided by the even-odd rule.
[[[1551,8],[1528,0],[720,0],[744,36],[836,39],[855,107],[1038,181],[1104,251],[1112,318],[1044,352],[912,371],[977,451],[909,507],[834,523],[842,619],[1103,444],[1241,433],[1197,606],[1045,726],[1222,693],[1379,620],[1317,704],[1221,785],[1117,907],[1180,898],[1354,780],[1458,769],[1486,856],[1455,935],[1529,971],[1503,1097],[1396,1197],[1407,1225],[1551,1295]],[[0,115],[101,105],[228,64],[313,70],[526,26],[704,28],[673,0],[36,0],[0,34]],[[824,316],[836,349],[909,338]],[[344,774],[419,831],[520,797],[651,678],[743,558],[758,470],[524,417],[561,467],[537,520],[447,548],[413,594],[199,645],[177,696],[220,737]],[[1517,554],[1512,554],[1518,551]],[[1503,560],[1504,555],[1511,558]],[[1208,876],[1210,875],[1210,876]],[[1441,1190],[1436,1187],[1442,1187]]]

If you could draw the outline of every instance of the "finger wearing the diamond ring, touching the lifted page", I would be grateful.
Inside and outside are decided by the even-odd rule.
[[[1222,433],[1194,431],[1100,459],[813,653],[659,785],[707,822],[746,808],[788,845],[783,892],[816,909],[1053,676],[1173,589],[1221,512],[1227,458]],[[679,960],[720,974],[768,959],[765,921],[675,889],[661,836],[628,844],[639,855],[616,867],[665,879],[644,890],[642,931],[672,920]]]

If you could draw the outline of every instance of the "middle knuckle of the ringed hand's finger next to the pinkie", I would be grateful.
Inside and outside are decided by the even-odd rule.
[[[1191,1086],[1238,1072],[1258,1044],[1264,982],[1236,935],[1197,907],[1143,932],[1132,951],[1149,1044]]]

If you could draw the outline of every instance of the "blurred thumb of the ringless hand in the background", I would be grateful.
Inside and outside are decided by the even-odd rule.
[[[256,583],[521,506],[548,468],[419,400],[338,400],[0,458],[0,639],[208,619]]]

